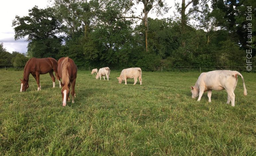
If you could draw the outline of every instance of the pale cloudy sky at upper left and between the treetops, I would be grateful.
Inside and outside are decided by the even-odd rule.
[[[32,9],[35,5],[40,9],[47,8],[50,5],[49,0],[3,0],[0,5],[0,43],[3,42],[4,48],[8,52],[18,51],[22,53],[27,52],[28,42],[26,38],[14,39],[14,27],[12,27],[12,21],[15,19],[15,16],[20,17],[27,16],[29,9]],[[163,17],[167,18],[173,14],[175,10],[174,1],[166,0],[168,6],[172,6],[170,11],[165,14]],[[142,8],[142,7],[141,7]],[[148,17],[156,18],[154,14],[149,14]],[[158,17],[161,18],[161,17]]]

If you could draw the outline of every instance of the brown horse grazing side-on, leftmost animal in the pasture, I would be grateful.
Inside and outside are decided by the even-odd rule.
[[[29,74],[32,74],[33,77],[37,81],[37,90],[41,90],[40,84],[40,74],[49,73],[53,80],[53,88],[55,87],[55,77],[53,75],[53,71],[55,72],[55,76],[59,80],[60,88],[61,88],[61,79],[58,75],[58,62],[56,59],[48,57],[48,58],[31,58],[28,60],[24,67],[23,72],[23,80],[21,80],[21,89],[20,92],[24,92],[29,88]]]

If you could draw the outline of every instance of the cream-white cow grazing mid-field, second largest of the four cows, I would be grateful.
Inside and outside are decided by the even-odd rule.
[[[142,72],[140,68],[127,68],[123,69],[120,76],[117,77],[118,83],[122,83],[124,80],[125,84],[127,85],[127,79],[133,79],[134,78],[134,84],[137,83],[137,78],[139,77],[140,85],[142,85]]]

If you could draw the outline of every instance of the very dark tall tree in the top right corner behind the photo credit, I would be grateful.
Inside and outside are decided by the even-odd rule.
[[[211,16],[217,26],[229,31],[230,38],[242,48],[248,48],[248,40],[256,54],[256,1],[255,0],[212,0]],[[248,25],[249,24],[249,25]],[[251,25],[251,27],[250,27]],[[251,37],[251,38],[250,38]]]

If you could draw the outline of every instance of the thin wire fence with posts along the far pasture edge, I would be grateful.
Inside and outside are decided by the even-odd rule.
[[[179,67],[157,67],[157,68],[143,68],[141,67],[142,71],[153,71],[153,72],[207,72],[212,70],[236,70],[240,72],[249,72],[246,69],[247,66],[179,66]],[[256,72],[256,66],[251,66],[252,69],[250,72]],[[99,67],[78,67],[78,70],[85,70],[85,71],[91,71],[92,69],[97,68],[99,70]],[[100,67],[102,68],[102,67]],[[131,67],[110,67],[110,70],[112,71],[122,71],[123,69],[131,68]],[[23,70],[24,68],[15,68],[15,67],[6,67],[2,66],[0,67],[0,70],[14,70],[19,71]]]

